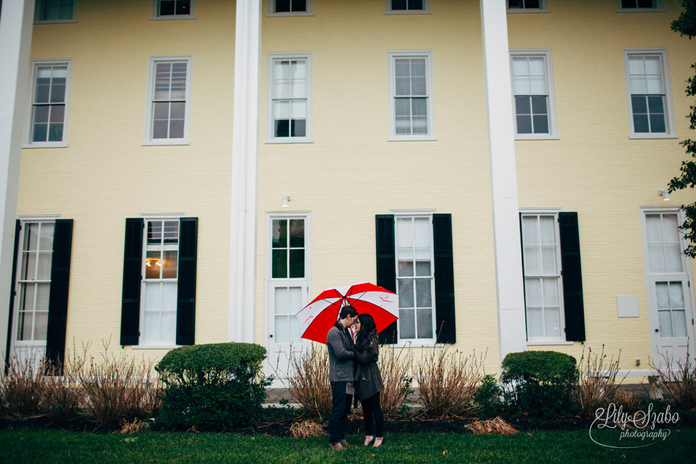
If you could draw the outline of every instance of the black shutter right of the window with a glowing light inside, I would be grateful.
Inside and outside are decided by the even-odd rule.
[[[176,344],[192,345],[196,334],[196,248],[198,218],[179,221]]]

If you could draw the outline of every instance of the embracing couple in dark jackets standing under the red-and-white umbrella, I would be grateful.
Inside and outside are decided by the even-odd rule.
[[[355,326],[355,342],[349,328]],[[338,321],[326,335],[329,349],[329,381],[333,394],[333,408],[329,416],[329,448],[339,450],[349,447],[345,440],[346,424],[353,395],[363,406],[365,421],[365,446],[383,443],[384,416],[379,404],[379,392],[383,390],[382,378],[377,367],[379,342],[377,326],[370,314],[360,314],[352,306],[340,310]],[[373,426],[375,435],[372,435]]]

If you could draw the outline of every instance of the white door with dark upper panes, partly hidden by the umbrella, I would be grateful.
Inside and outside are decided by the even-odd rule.
[[[309,303],[310,220],[308,214],[268,214],[266,225],[266,371],[280,387],[292,373],[292,358],[311,348],[295,316]]]

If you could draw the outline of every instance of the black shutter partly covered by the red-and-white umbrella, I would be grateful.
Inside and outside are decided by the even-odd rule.
[[[396,248],[394,242],[394,215],[377,214],[375,241],[377,242],[377,285],[396,293]],[[379,334],[380,343],[399,341],[396,321]]]

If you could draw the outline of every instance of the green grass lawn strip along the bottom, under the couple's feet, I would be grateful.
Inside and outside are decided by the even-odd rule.
[[[618,442],[615,431],[599,436]],[[596,435],[593,432],[593,436]],[[361,437],[351,436],[354,444]],[[277,438],[224,433],[93,434],[42,429],[0,431],[0,462],[23,463],[669,463],[690,462],[696,431],[672,430],[638,449],[594,444],[587,431],[516,435],[393,433],[379,449],[328,449],[326,438]]]

